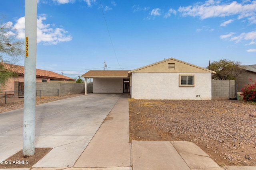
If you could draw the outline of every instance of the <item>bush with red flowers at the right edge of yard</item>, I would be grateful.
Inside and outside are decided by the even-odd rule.
[[[252,84],[246,84],[244,88],[242,88],[240,96],[244,101],[256,102],[256,79],[252,80],[249,78],[249,80]]]

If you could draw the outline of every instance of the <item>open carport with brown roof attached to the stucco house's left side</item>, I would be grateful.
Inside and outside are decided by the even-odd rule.
[[[130,76],[129,70],[90,70],[82,75],[93,79],[93,93],[129,93]],[[87,94],[85,83],[85,94]]]

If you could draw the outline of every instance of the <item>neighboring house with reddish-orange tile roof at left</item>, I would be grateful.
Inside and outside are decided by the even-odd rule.
[[[24,90],[24,66],[7,64],[7,63],[0,63],[0,64],[2,64],[5,69],[10,70],[11,72],[15,72],[17,74],[16,77],[9,79],[5,87],[0,87],[1,88],[0,90],[2,92]],[[67,76],[63,76],[56,72],[36,69],[36,82],[51,82],[51,81],[75,82],[75,79],[69,78]],[[15,88],[15,82],[18,82],[18,88]]]

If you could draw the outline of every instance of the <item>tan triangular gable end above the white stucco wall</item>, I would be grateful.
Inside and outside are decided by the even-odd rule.
[[[167,67],[164,67],[164,68],[160,68],[160,65],[162,66],[162,64],[164,63],[168,63],[168,62],[174,62],[174,63],[180,63],[182,65],[186,65],[186,66],[189,66],[190,68],[195,68],[196,70],[200,70],[200,72],[208,72],[208,73],[216,73],[215,71],[212,71],[212,70],[208,70],[206,68],[203,68],[203,67],[200,67],[200,66],[196,66],[194,64],[190,64],[190,63],[186,63],[184,61],[180,61],[180,60],[177,60],[177,59],[174,59],[174,58],[170,58],[170,59],[165,59],[163,61],[159,61],[157,63],[153,63],[153,64],[149,64],[147,66],[143,66],[143,67],[140,67],[140,68],[137,68],[137,69],[134,69],[134,70],[131,70],[131,71],[128,71],[128,74],[132,73],[132,72],[156,72],[155,70],[161,70],[159,72],[165,72],[163,71],[164,69],[166,69]],[[159,66],[157,66],[159,65]],[[188,69],[188,70],[183,70],[184,68],[182,67],[182,70],[168,70],[168,72],[180,72],[180,71],[184,71],[184,72],[190,72],[191,69]]]

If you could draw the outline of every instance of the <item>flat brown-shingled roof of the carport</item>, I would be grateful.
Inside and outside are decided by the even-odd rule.
[[[84,78],[129,78],[130,70],[90,70],[82,75]]]

